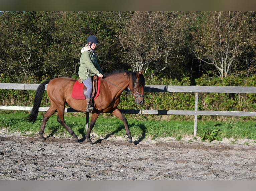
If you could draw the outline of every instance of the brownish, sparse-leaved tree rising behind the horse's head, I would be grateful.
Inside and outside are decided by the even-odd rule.
[[[135,11],[119,33],[123,61],[133,71],[150,69],[152,75],[182,73],[187,17],[185,12]]]

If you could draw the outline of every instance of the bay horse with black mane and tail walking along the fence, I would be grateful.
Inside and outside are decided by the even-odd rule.
[[[76,142],[79,141],[77,135],[64,120],[66,103],[77,111],[85,112],[86,110],[85,99],[73,99],[71,96],[72,89],[76,81],[77,80],[75,79],[67,77],[55,78],[44,81],[38,86],[32,110],[25,119],[29,122],[35,122],[42,95],[45,90],[45,85],[48,84],[47,94],[50,99],[50,107],[43,115],[41,127],[38,133],[40,141],[45,140],[43,136],[45,123],[55,111],[57,111],[57,121],[68,130],[72,136],[72,140]],[[100,94],[96,99],[94,99],[94,111],[92,112],[89,128],[86,133],[86,142],[92,144],[90,134],[99,114],[110,112],[123,121],[127,134],[126,139],[128,142],[132,143],[132,136],[127,119],[117,108],[120,102],[121,93],[128,87],[130,89],[129,93],[131,93],[135,98],[135,103],[138,105],[142,104],[144,102],[145,87],[145,79],[142,70],[140,72],[119,71],[118,73],[106,75],[104,79],[100,80]]]

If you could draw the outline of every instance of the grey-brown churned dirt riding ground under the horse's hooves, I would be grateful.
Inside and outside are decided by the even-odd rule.
[[[256,180],[256,144],[0,135],[0,180]]]

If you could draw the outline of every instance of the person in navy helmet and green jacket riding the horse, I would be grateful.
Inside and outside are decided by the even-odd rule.
[[[87,102],[86,112],[93,111],[93,105],[91,104],[93,90],[92,77],[95,75],[100,78],[104,77],[101,67],[98,64],[97,56],[94,52],[94,49],[98,44],[99,42],[97,37],[91,35],[87,38],[86,45],[81,50],[82,55],[80,57],[78,74],[83,84],[87,87],[87,92],[85,95]]]

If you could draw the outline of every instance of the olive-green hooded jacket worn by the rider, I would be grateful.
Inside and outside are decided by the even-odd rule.
[[[89,47],[84,47],[81,52],[82,55],[80,57],[80,67],[78,71],[78,75],[81,81],[84,81],[91,76],[98,76],[100,74],[103,75],[94,51],[91,50]]]

